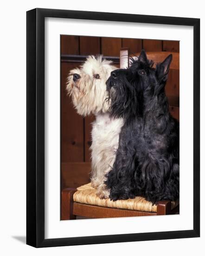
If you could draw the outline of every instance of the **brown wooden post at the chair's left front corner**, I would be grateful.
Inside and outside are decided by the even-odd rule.
[[[75,220],[73,215],[73,194],[77,189],[64,189],[61,192],[61,220]]]

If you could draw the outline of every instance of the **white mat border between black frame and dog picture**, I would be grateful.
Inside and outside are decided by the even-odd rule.
[[[59,221],[60,34],[180,40],[180,215]],[[193,229],[192,63],[192,27],[45,18],[45,238]]]

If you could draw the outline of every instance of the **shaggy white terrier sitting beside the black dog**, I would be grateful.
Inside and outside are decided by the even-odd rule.
[[[111,61],[102,59],[102,55],[89,56],[80,68],[70,71],[66,87],[78,114],[96,115],[96,121],[92,124],[91,183],[96,187],[100,198],[109,197],[109,190],[104,184],[105,175],[115,161],[119,133],[123,125],[122,119],[110,117],[109,103],[106,101],[105,82],[110,72],[115,69]]]

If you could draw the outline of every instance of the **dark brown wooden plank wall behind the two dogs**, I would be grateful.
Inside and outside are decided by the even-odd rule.
[[[121,47],[129,47],[131,53],[146,51],[179,52],[179,41],[141,40],[124,38],[100,38],[61,36],[61,54],[103,54],[118,56]],[[66,79],[70,69],[81,63],[61,61],[61,177],[62,189],[77,187],[89,182],[91,122],[93,116],[78,115],[66,94]],[[171,70],[167,93],[179,96],[179,71]],[[171,114],[179,120],[179,106],[170,106]]]

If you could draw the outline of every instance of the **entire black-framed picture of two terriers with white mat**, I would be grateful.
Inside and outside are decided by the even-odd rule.
[[[200,20],[26,19],[26,243],[199,237]]]

